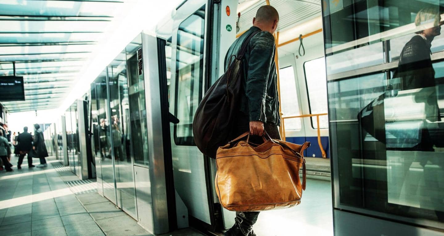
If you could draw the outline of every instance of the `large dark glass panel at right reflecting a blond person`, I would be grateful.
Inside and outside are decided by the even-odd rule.
[[[443,229],[443,5],[413,3],[325,9],[335,207]],[[357,60],[338,70],[340,54]]]

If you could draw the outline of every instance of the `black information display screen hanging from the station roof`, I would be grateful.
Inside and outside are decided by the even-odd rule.
[[[24,101],[23,77],[0,76],[0,101]]]

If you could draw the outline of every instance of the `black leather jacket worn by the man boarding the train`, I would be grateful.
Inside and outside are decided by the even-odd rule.
[[[225,56],[225,70],[233,59],[231,56],[237,55],[244,40],[256,31],[261,29],[251,27],[230,46]],[[245,117],[241,118],[243,125],[259,120],[267,124],[281,125],[274,50],[274,37],[268,31],[261,31],[250,40],[244,55],[247,63],[243,63],[246,78],[242,82],[245,93],[241,96],[240,104],[240,117]]]

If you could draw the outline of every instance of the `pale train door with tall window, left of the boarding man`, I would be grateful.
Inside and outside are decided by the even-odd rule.
[[[211,160],[194,144],[192,122],[202,99],[208,72],[207,45],[212,1],[185,1],[177,8],[171,42],[170,113],[178,118],[171,124],[174,186],[188,209],[191,224],[213,225]]]

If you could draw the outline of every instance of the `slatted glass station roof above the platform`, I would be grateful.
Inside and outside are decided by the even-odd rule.
[[[24,77],[9,112],[57,108],[127,0],[0,1],[0,76]],[[0,91],[1,92],[1,91]]]

